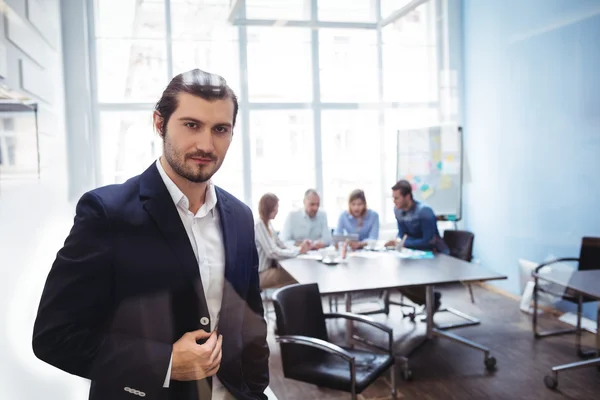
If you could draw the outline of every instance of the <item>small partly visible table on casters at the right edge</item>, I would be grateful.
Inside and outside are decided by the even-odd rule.
[[[559,285],[569,289],[570,292],[576,293],[579,301],[583,297],[591,297],[600,301],[600,270],[587,271],[572,271],[567,274],[564,272],[553,271],[550,273],[534,273],[533,277],[536,280],[543,280],[555,285]],[[537,282],[536,282],[537,283]],[[537,285],[536,285],[537,287]],[[534,293],[534,301],[537,301],[537,293]],[[581,351],[580,327],[577,330],[577,347],[578,353],[584,354]],[[544,383],[550,389],[556,389],[558,386],[558,373],[571,369],[586,368],[591,366],[600,366],[600,302],[598,303],[598,311],[596,315],[596,357],[589,360],[577,361],[569,364],[557,365],[552,367],[552,375],[544,377]]]

